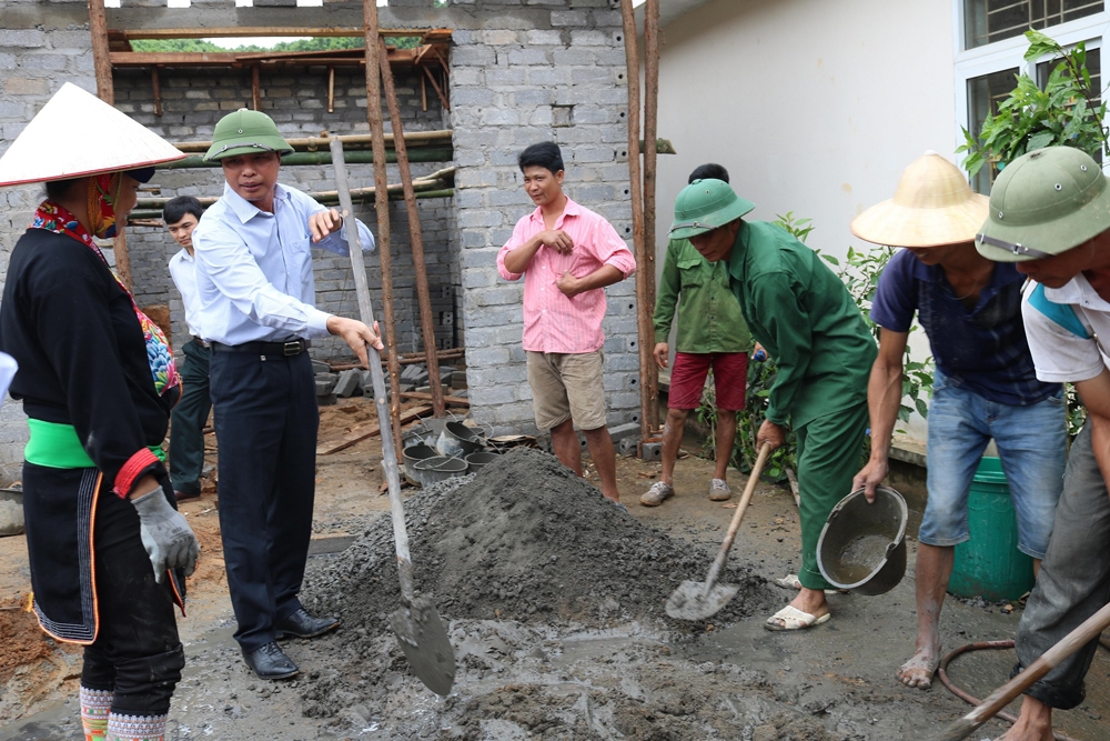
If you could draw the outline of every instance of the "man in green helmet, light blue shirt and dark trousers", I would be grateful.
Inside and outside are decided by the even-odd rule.
[[[220,447],[220,530],[235,640],[262,679],[297,673],[276,640],[339,625],[297,600],[315,487],[312,338],[336,334],[366,363],[381,349],[361,321],[317,310],[312,248],[347,254],[343,219],[278,183],[293,148],[265,113],[241,109],[215,127],[205,160],[223,167],[223,197],[193,232],[200,323],[212,344],[210,390]],[[374,238],[359,222],[364,249]]]

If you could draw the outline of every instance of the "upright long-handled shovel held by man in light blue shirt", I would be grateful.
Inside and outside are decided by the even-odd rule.
[[[359,293],[359,313],[362,321],[374,326],[374,310],[370,306],[370,288],[366,286],[366,270],[362,262],[362,243],[359,240],[359,224],[351,204],[347,187],[346,163],[343,160],[343,142],[332,139],[332,166],[335,168],[335,184],[343,209],[347,244],[351,247],[351,267],[354,284]],[[382,194],[384,197],[384,194]],[[401,502],[401,474],[397,470],[397,454],[393,447],[393,427],[385,405],[385,375],[382,360],[371,346],[370,374],[374,380],[374,405],[377,407],[377,427],[382,434],[382,459],[385,479],[390,485],[390,513],[393,515],[393,540],[397,549],[397,571],[401,577],[401,608],[390,614],[390,624],[397,634],[401,649],[408,659],[413,673],[424,685],[436,694],[446,697],[455,681],[455,651],[451,647],[447,631],[432,600],[416,597],[413,590],[413,563],[408,558],[408,533],[405,531],[405,510]]]

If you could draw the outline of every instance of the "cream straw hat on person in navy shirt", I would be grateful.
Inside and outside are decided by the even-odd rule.
[[[902,172],[895,197],[856,217],[851,231],[890,247],[970,242],[987,219],[987,204],[955,164],[926,152]]]

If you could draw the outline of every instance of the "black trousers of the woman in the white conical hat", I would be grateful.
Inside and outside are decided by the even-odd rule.
[[[107,485],[94,527],[100,630],[84,649],[81,684],[113,691],[113,713],[164,715],[185,665],[170,584],[154,581],[135,508]]]

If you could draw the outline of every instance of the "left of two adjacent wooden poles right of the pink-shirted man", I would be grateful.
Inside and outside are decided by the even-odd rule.
[[[628,70],[628,184],[632,199],[632,238],[636,257],[636,329],[639,338],[639,431],[646,440],[652,435],[650,381],[652,350],[655,329],[652,326],[654,306],[647,300],[647,250],[644,244],[644,199],[639,168],[639,53],[636,50],[636,11],[632,0],[620,0],[624,20],[625,61]]]

